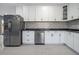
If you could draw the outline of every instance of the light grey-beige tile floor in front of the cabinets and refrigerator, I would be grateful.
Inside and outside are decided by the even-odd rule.
[[[5,47],[0,55],[76,55],[65,45],[22,45],[20,47]]]

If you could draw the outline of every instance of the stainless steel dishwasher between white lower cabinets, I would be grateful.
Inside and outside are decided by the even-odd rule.
[[[45,33],[44,31],[35,31],[35,45],[44,45]]]

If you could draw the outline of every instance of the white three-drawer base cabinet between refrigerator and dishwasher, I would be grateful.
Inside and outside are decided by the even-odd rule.
[[[34,44],[34,31],[22,31],[22,43]]]

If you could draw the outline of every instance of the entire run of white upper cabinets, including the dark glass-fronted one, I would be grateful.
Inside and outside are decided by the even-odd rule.
[[[16,14],[24,21],[65,21],[79,19],[79,4],[52,6],[16,6]]]

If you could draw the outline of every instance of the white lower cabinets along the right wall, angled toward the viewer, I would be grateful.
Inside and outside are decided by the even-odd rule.
[[[64,43],[79,53],[79,33],[67,31],[65,34],[66,39]]]

